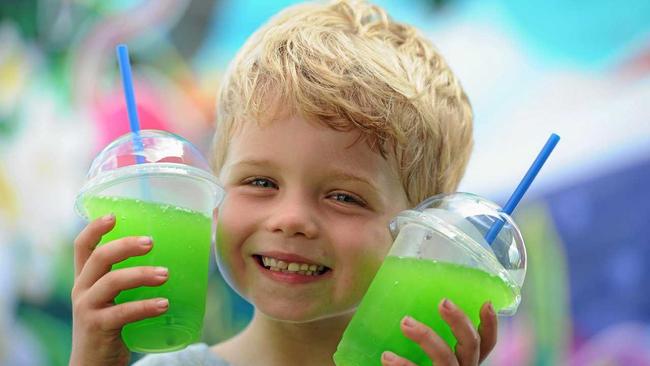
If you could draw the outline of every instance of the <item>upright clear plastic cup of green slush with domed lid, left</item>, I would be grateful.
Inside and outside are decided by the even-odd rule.
[[[199,340],[208,281],[212,211],[224,192],[199,151],[180,136],[157,130],[128,133],[94,159],[75,208],[86,220],[114,213],[114,229],[99,245],[126,236],[150,236],[153,248],[113,270],[169,269],[166,283],[122,291],[117,304],[156,297],[169,309],[122,329],[135,352],[167,352]]]

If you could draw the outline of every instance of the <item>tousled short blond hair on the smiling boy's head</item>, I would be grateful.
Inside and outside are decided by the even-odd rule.
[[[245,43],[225,75],[213,168],[246,120],[276,108],[363,139],[397,163],[407,198],[456,190],[472,148],[472,110],[460,83],[418,31],[363,1],[285,9]]]

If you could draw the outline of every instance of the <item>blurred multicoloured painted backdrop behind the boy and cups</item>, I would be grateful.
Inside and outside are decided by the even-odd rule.
[[[207,154],[227,63],[292,3],[0,2],[1,365],[67,364],[75,194],[128,131],[115,45],[130,48],[142,127]],[[562,137],[518,208],[523,303],[486,364],[650,365],[650,2],[379,4],[431,37],[470,96],[461,190],[504,204],[549,134]],[[210,273],[214,343],[251,308]]]

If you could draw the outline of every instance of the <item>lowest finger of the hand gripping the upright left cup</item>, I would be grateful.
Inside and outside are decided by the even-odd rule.
[[[102,330],[115,330],[128,323],[158,316],[168,308],[169,301],[164,298],[130,301],[100,310],[97,319]]]

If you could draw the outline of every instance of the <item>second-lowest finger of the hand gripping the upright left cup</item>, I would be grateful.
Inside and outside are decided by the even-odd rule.
[[[87,292],[93,306],[112,305],[120,291],[140,287],[159,286],[167,281],[165,267],[131,267],[108,272]]]

